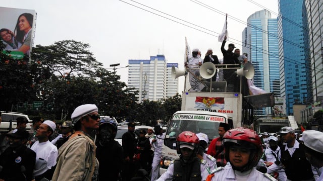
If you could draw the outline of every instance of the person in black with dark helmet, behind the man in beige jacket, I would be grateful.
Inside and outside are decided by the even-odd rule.
[[[117,131],[118,123],[114,119],[106,117],[100,120],[95,155],[99,161],[99,180],[117,181],[119,178],[123,150],[119,142],[114,140]]]

